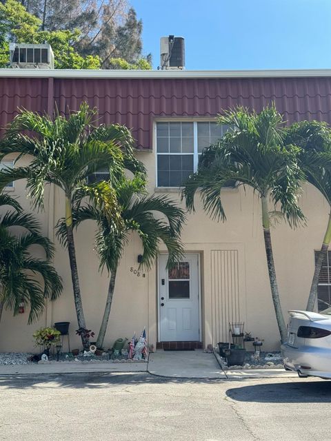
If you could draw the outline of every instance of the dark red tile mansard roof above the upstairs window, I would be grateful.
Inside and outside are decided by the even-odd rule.
[[[68,109],[77,110],[81,101],[97,107],[100,122],[117,122],[132,128],[137,145],[150,149],[154,119],[210,118],[239,104],[259,112],[274,101],[290,123],[303,119],[331,123],[331,77],[48,79],[0,76],[0,127],[12,120],[19,107],[47,112],[56,103],[60,112],[68,112]]]

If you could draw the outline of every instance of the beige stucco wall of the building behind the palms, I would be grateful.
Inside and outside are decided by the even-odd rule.
[[[155,157],[153,152],[140,152],[139,159],[149,171],[149,191],[155,190]],[[23,182],[15,185],[14,194],[21,194],[19,201],[29,208]],[[159,192],[158,192],[159,194]],[[180,202],[178,192],[164,192]],[[183,231],[183,243],[187,252],[197,252],[201,256],[201,307],[202,339],[204,345],[216,344],[223,337],[219,320],[222,317],[223,296],[215,285],[215,252],[235,250],[238,256],[237,288],[240,300],[240,318],[245,322],[245,330],[265,340],[265,349],[279,346],[279,333],[274,318],[268,271],[265,263],[263,231],[259,200],[250,189],[227,189],[222,194],[227,222],[217,223],[208,218],[201,209],[197,198],[196,213],[188,216]],[[77,319],[74,311],[68,254],[54,238],[54,223],[63,216],[64,202],[59,190],[47,189],[46,212],[39,213],[43,232],[57,245],[54,265],[63,277],[64,290],[61,298],[47,306],[39,322],[26,325],[27,314],[12,318],[5,311],[0,323],[0,351],[21,351],[33,349],[32,334],[43,325],[56,321],[70,321],[71,347],[79,347],[79,339],[74,335]],[[274,259],[277,269],[279,291],[283,312],[287,318],[288,309],[305,307],[312,272],[314,269],[314,249],[319,249],[328,220],[328,206],[322,196],[312,187],[306,186],[301,196],[301,206],[307,216],[307,226],[293,231],[281,222],[272,230]],[[98,272],[98,260],[93,250],[93,223],[79,227],[75,240],[77,261],[83,296],[83,306],[89,329],[97,333],[108,289],[108,274]],[[164,251],[164,250],[163,250]],[[145,278],[132,274],[130,267],[137,269],[137,256],[141,245],[132,236],[130,245],[119,267],[110,325],[106,334],[106,347],[119,337],[140,333],[144,326],[148,338],[157,342],[157,270],[152,269]],[[221,254],[219,254],[221,255]],[[215,266],[216,265],[216,266]],[[228,289],[228,285],[222,288]],[[227,291],[228,292],[228,291]],[[226,299],[225,299],[226,300]],[[224,301],[225,301],[224,300]],[[216,314],[217,309],[217,314]],[[227,324],[226,324],[227,326]],[[225,326],[225,329],[226,329]]]

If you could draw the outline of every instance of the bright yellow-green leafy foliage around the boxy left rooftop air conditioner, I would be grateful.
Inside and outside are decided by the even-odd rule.
[[[26,12],[16,0],[0,3],[0,67],[9,62],[8,41],[17,43],[49,43],[54,52],[55,68],[99,69],[101,61],[97,55],[82,57],[74,50],[79,40],[79,30],[40,30],[41,20]]]

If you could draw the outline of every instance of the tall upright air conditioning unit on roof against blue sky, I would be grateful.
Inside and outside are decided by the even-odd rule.
[[[183,37],[161,37],[161,69],[181,70],[185,66],[185,40]]]

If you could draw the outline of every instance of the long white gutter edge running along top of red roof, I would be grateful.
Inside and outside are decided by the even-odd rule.
[[[67,70],[0,69],[0,77],[35,78],[297,78],[331,76],[330,69],[308,70]]]

